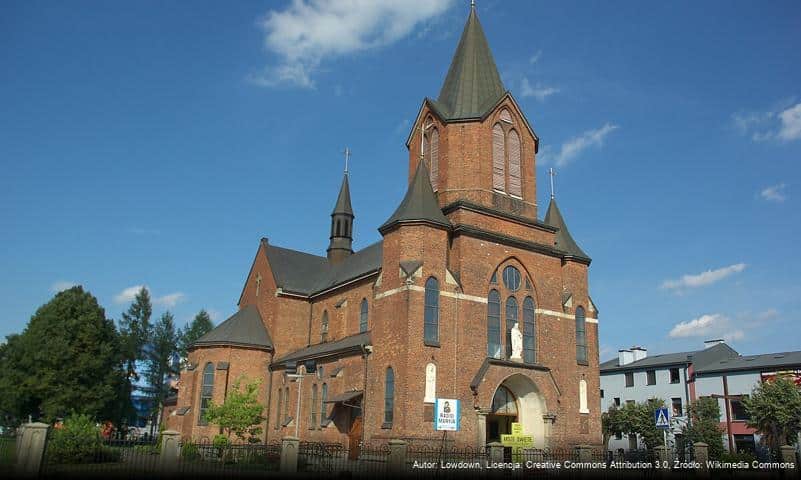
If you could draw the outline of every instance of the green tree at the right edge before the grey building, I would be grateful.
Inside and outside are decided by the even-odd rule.
[[[786,378],[760,383],[743,405],[750,417],[748,426],[757,429],[771,451],[792,444],[801,431],[801,393]]]

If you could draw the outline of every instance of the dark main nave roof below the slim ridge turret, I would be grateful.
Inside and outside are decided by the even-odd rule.
[[[278,287],[287,292],[312,296],[359,277],[378,272],[383,255],[376,242],[349,255],[339,263],[327,258],[265,242],[265,252]]]

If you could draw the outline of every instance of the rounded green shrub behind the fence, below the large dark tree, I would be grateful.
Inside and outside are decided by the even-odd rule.
[[[91,463],[103,449],[100,429],[88,415],[71,415],[53,431],[47,445],[50,463]]]

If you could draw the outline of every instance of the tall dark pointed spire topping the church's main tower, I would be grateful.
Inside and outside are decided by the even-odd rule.
[[[472,3],[436,107],[447,120],[480,118],[504,93],[506,89]]]

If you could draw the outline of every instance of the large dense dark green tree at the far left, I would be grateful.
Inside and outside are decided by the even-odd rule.
[[[119,420],[130,409],[119,351],[114,322],[94,296],[82,287],[59,292],[2,349],[3,409],[46,421],[70,413]]]

